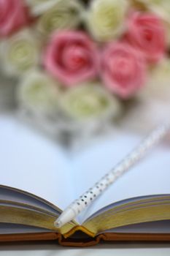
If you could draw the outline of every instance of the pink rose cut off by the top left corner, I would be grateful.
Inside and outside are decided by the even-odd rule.
[[[8,36],[28,23],[23,0],[0,0],[0,36]]]

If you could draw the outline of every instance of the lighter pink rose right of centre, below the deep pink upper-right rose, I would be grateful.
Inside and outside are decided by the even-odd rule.
[[[122,98],[131,97],[144,86],[143,55],[126,42],[111,42],[101,53],[104,85]]]

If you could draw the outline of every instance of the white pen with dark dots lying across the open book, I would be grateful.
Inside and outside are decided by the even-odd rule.
[[[150,135],[145,138],[125,159],[123,159],[116,167],[109,171],[103,178],[98,181],[94,187],[88,189],[77,200],[74,200],[69,207],[55,220],[55,227],[62,227],[66,223],[72,221],[85,207],[89,206],[93,200],[101,195],[107,187],[109,187],[117,178],[123,173],[133,167],[136,162],[139,162],[147,151],[149,151],[155,144],[160,142],[163,137],[169,132],[170,123],[162,124],[157,129],[154,129]]]

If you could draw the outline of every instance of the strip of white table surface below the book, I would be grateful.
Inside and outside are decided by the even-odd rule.
[[[1,245],[1,256],[168,256],[170,244],[100,244],[88,248],[62,247],[55,244],[29,244],[29,245]]]

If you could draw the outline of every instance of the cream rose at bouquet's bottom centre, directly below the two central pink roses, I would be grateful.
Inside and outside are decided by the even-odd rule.
[[[115,118],[120,114],[120,102],[102,88],[100,83],[82,83],[68,89],[61,97],[63,116],[74,121]]]

